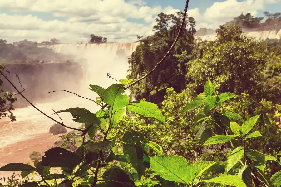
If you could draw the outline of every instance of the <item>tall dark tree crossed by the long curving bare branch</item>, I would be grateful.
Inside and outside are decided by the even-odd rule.
[[[150,71],[163,57],[172,45],[180,28],[183,12],[175,14],[160,13],[153,27],[155,34],[140,40],[140,45],[129,59],[130,74],[128,78],[137,79]],[[170,23],[170,24],[168,24]],[[173,87],[176,92],[185,88],[186,62],[192,59],[192,49],[195,34],[195,20],[187,17],[179,40],[174,49],[146,81],[130,88],[136,99],[145,98],[160,104],[165,95],[165,89]],[[184,61],[185,59],[186,61]]]

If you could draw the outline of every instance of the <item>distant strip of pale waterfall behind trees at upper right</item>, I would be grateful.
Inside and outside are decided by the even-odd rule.
[[[248,36],[254,37],[257,40],[266,40],[269,39],[281,39],[281,30],[276,32],[276,30],[269,30],[269,31],[256,31],[256,32],[247,32]],[[203,41],[207,40],[215,40],[217,38],[216,34],[209,34],[204,36],[196,36],[195,38],[201,38]]]

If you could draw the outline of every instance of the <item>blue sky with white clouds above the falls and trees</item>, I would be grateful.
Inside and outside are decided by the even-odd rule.
[[[0,0],[0,39],[77,43],[94,34],[108,42],[133,42],[136,35],[153,34],[157,14],[184,7],[185,0]],[[263,17],[280,7],[281,0],[189,0],[187,13],[196,29],[216,29],[241,13]]]

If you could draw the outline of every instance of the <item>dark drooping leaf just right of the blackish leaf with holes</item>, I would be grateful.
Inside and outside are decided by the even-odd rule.
[[[93,161],[97,161],[101,158],[101,161],[105,161],[112,149],[111,141],[91,141],[83,145],[85,150],[85,159],[88,159],[87,164],[91,164]]]

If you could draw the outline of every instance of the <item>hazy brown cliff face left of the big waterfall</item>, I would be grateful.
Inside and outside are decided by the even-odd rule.
[[[48,102],[62,97],[62,93],[47,94],[55,90],[80,89],[83,78],[84,67],[78,63],[41,63],[41,64],[12,64],[7,65],[10,71],[8,78],[22,91],[18,78],[25,89],[22,93],[31,102]],[[6,80],[3,80],[3,91],[17,93],[17,91]],[[65,94],[65,93],[64,93]],[[15,108],[25,107],[27,102],[18,94]]]

